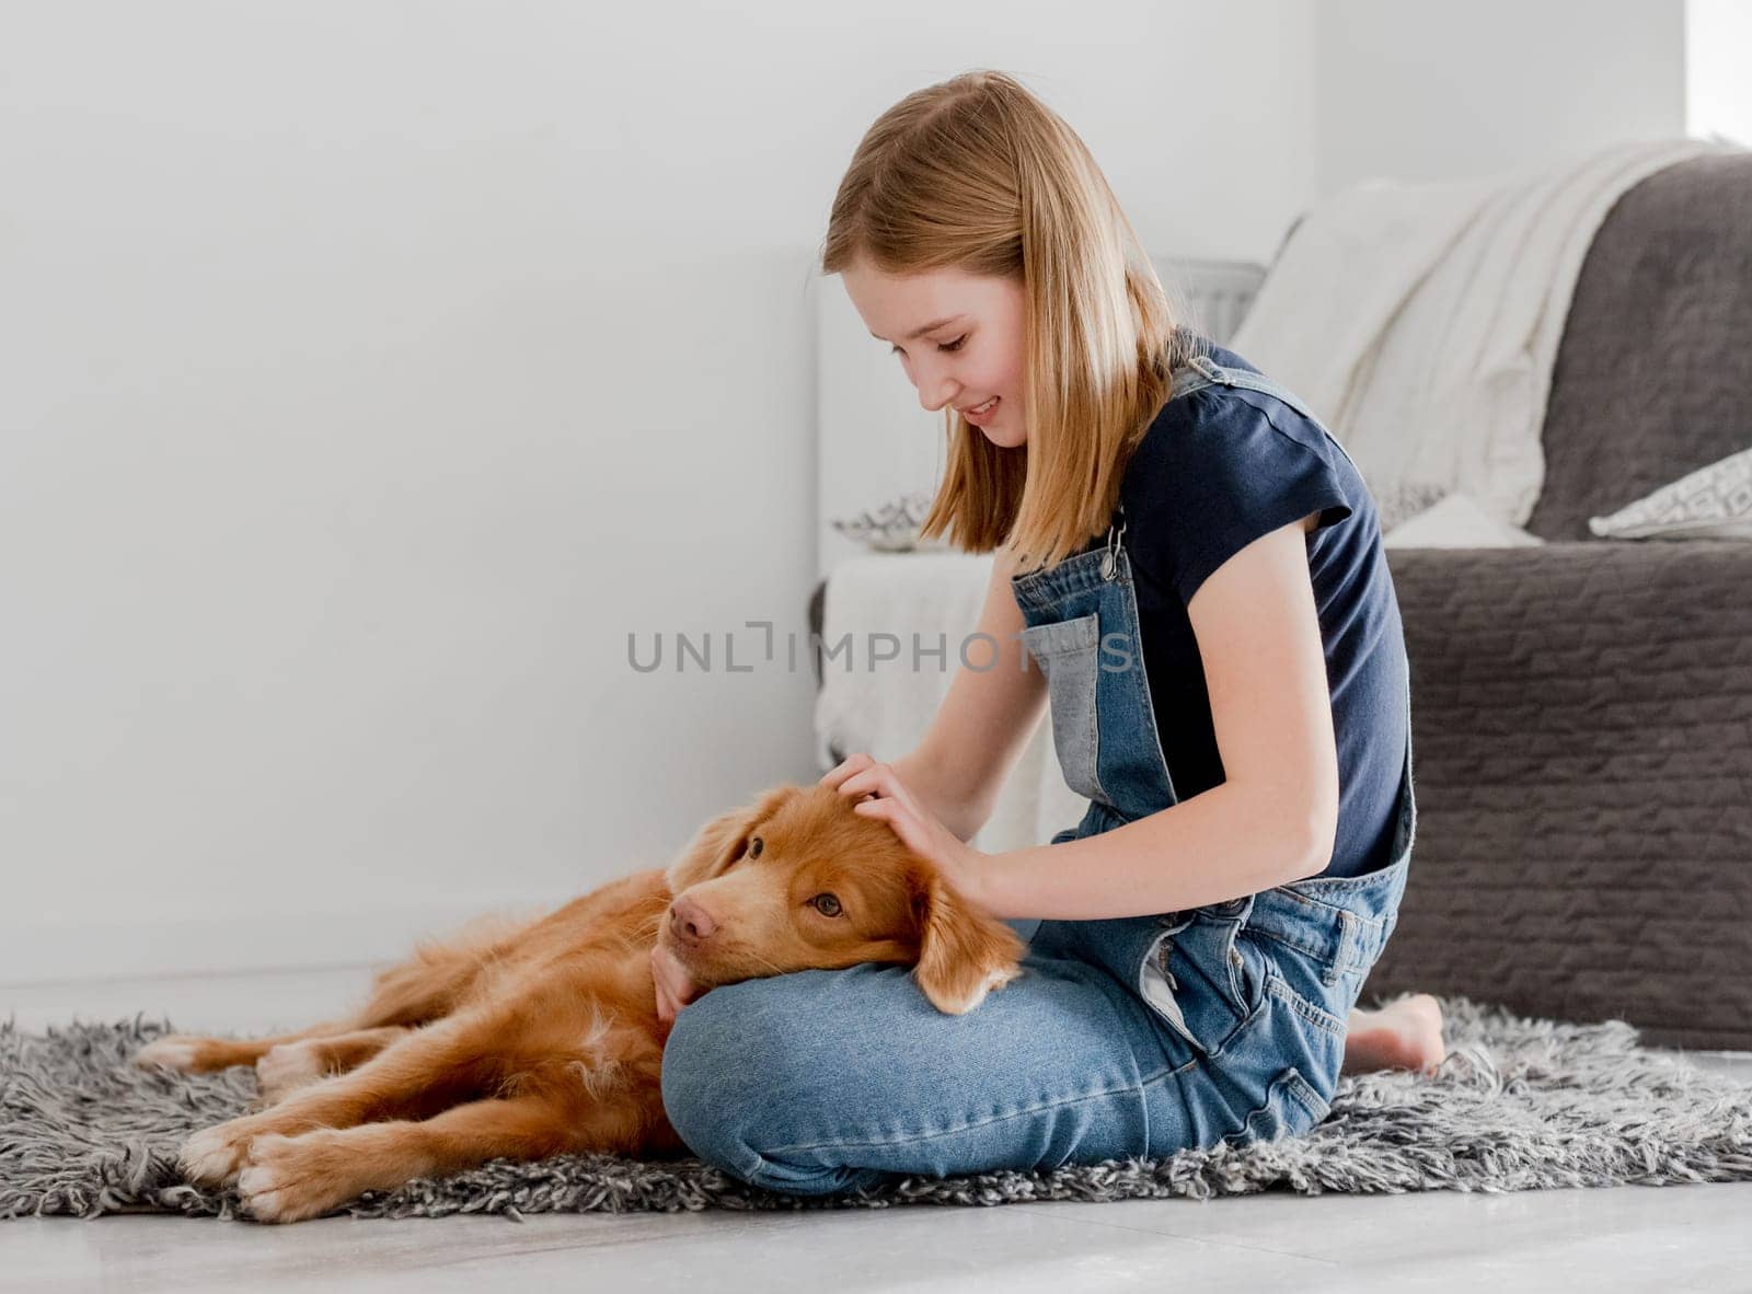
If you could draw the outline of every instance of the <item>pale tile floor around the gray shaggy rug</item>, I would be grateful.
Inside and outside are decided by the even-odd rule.
[[[364,970],[0,988],[40,1030],[75,1014],[273,1028]],[[1752,1061],[1706,1058],[1752,1077]],[[1507,1196],[1244,1196],[1207,1203],[638,1213],[293,1227],[173,1217],[0,1222],[0,1290],[1752,1290],[1752,1184]]]

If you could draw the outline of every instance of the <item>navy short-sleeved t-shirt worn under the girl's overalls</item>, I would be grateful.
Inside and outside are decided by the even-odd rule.
[[[1200,341],[1225,368],[1260,369]],[[1405,637],[1375,501],[1326,431],[1275,396],[1212,383],[1170,399],[1120,487],[1139,637],[1177,798],[1223,781],[1211,693],[1186,604],[1223,562],[1319,513],[1305,536],[1339,746],[1339,833],[1323,876],[1393,860],[1405,765]]]

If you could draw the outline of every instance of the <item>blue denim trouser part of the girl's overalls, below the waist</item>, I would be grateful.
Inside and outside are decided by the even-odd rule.
[[[965,1016],[906,967],[725,984],[676,1016],[664,1108],[708,1163],[806,1196],[1298,1136],[1326,1115],[1405,865],[1146,919],[1181,1024],[1062,937]]]

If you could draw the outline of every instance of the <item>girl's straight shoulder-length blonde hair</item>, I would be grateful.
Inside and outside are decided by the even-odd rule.
[[[953,408],[925,538],[1048,566],[1106,534],[1125,462],[1191,348],[1088,147],[1002,72],[965,72],[883,112],[839,182],[822,273],[955,268],[1020,282],[1028,441]]]

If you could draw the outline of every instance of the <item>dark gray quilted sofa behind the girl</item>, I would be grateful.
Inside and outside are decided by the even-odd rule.
[[[1752,543],[1587,531],[1752,447],[1752,156],[1659,172],[1607,215],[1544,447],[1544,546],[1388,552],[1419,828],[1365,998],[1752,1049]]]

